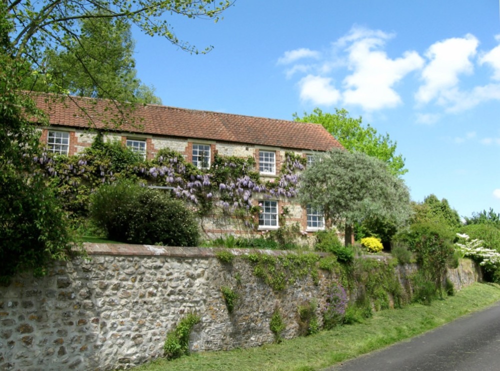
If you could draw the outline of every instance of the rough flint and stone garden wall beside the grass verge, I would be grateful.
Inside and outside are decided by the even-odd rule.
[[[191,332],[192,351],[273,341],[269,320],[276,307],[286,324],[282,337],[291,338],[299,333],[297,305],[317,298],[324,306],[335,279],[319,269],[317,282],[309,274],[274,291],[247,260],[223,263],[207,248],[86,248],[89,259],[56,263],[45,277],[25,273],[0,287],[0,371],[129,368],[161,356],[166,333],[191,311],[201,316]],[[398,272],[406,290],[412,271],[405,266]],[[477,274],[469,264],[453,279],[460,288]],[[232,313],[221,286],[239,295]]]

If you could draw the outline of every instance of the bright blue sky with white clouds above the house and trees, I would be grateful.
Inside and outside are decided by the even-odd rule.
[[[397,141],[411,198],[500,212],[497,0],[236,0],[214,23],[172,17],[194,55],[133,31],[163,104],[292,119],[345,108]]]

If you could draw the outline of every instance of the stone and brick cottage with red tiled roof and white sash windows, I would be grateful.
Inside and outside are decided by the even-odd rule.
[[[81,152],[100,131],[106,140],[121,141],[145,159],[169,148],[206,171],[215,155],[251,157],[260,179],[272,184],[285,175],[282,168],[287,153],[310,163],[314,152],[341,147],[321,125],[312,123],[152,104],[128,111],[109,100],[84,97],[58,101],[39,95],[36,100],[49,117],[49,125],[40,127],[40,140],[49,151],[60,154]],[[304,234],[324,228],[320,210],[301,207],[293,192],[263,193],[261,188],[248,193],[248,204],[258,205],[260,210],[257,232],[277,229],[285,210],[286,223],[298,223]],[[220,218],[207,217],[202,223],[205,233],[212,236],[255,232],[255,228],[241,228],[231,221],[222,223]]]

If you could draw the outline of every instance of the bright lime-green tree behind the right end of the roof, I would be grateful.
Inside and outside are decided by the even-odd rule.
[[[328,130],[348,151],[366,153],[387,164],[392,174],[402,175],[408,170],[404,168],[404,158],[396,155],[396,142],[392,142],[389,134],[377,134],[376,129],[369,124],[364,127],[362,119],[348,116],[345,109],[335,109],[335,113],[323,113],[314,108],[312,113],[304,112],[303,117],[293,114],[293,119],[299,122],[319,123]]]

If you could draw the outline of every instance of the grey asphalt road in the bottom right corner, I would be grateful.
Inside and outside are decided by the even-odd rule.
[[[328,371],[499,371],[500,302]]]

